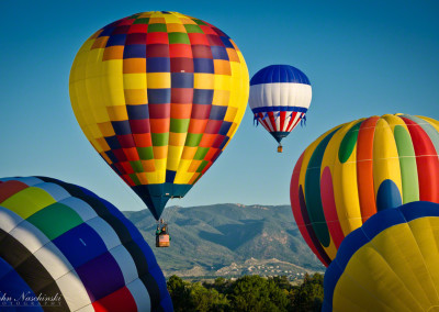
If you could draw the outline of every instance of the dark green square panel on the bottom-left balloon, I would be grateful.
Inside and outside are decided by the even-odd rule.
[[[47,238],[55,239],[83,221],[79,214],[63,203],[56,202],[27,218]]]

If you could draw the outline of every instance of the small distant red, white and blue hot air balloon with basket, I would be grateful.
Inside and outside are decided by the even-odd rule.
[[[250,80],[248,103],[255,114],[255,122],[278,141],[278,152],[282,153],[281,141],[302,121],[312,98],[308,78],[290,65],[270,65]]]

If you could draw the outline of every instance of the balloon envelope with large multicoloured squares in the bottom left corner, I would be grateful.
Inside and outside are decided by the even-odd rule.
[[[172,311],[151,249],[122,212],[45,177],[0,179],[0,293],[11,298],[2,309],[19,311]]]

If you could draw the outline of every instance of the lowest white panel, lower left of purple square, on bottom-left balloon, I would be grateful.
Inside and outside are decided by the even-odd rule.
[[[91,304],[90,298],[85,289],[81,279],[76,271],[70,271],[56,280],[63,297],[66,300],[70,311],[77,311]],[[92,310],[85,310],[92,311]]]

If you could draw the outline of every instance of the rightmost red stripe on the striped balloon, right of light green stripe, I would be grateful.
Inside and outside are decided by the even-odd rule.
[[[419,179],[419,200],[439,203],[439,159],[428,134],[414,121],[402,118],[415,147]]]

